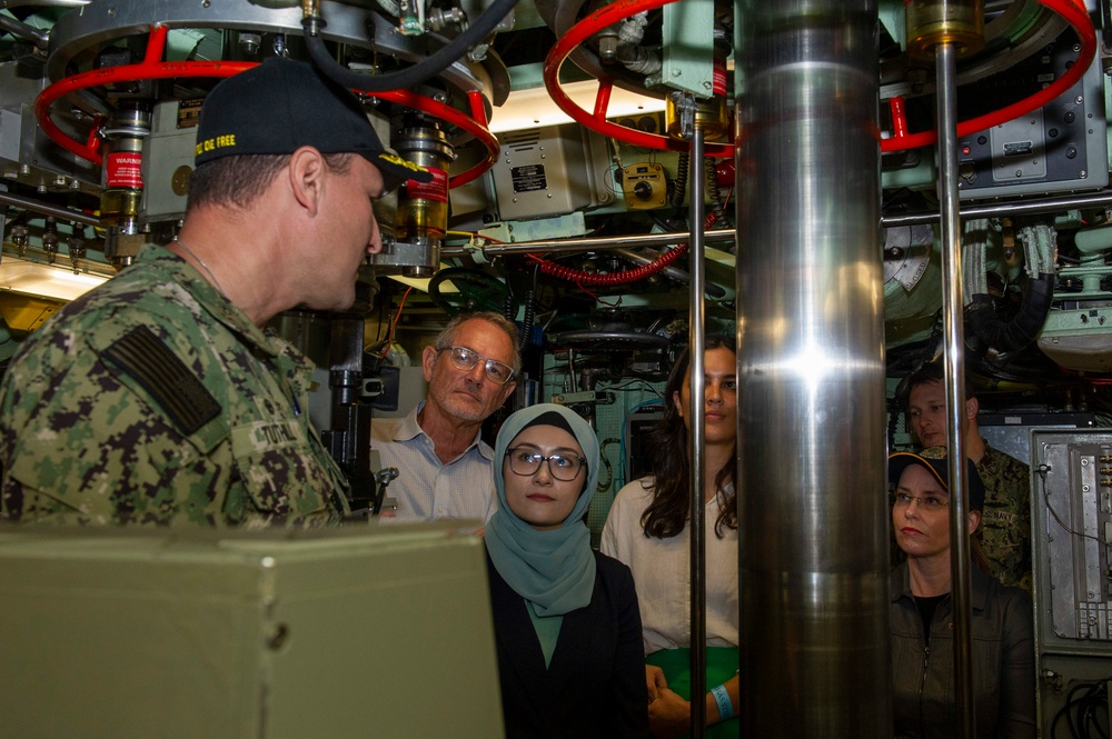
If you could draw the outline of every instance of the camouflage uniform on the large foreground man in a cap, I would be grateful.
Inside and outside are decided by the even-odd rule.
[[[0,520],[315,525],[348,483],[309,423],[312,364],[185,260],[58,312],[0,383]]]

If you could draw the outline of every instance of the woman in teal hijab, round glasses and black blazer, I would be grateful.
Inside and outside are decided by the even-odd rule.
[[[633,576],[592,551],[598,440],[562,406],[506,419],[485,542],[506,736],[648,737]]]

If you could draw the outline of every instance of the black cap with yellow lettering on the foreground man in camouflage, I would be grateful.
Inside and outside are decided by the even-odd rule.
[[[387,151],[359,100],[304,61],[271,58],[222,80],[201,107],[197,166],[239,154],[287,154],[304,146],[357,153],[383,173],[386,190],[433,173]]]

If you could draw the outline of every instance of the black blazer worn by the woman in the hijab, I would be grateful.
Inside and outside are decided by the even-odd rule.
[[[590,602],[564,616],[545,669],[525,599],[487,557],[507,739],[648,737],[641,611],[629,568],[595,552]]]

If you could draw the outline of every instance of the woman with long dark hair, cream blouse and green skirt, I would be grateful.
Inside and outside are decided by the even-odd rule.
[[[691,408],[689,348],[665,387],[664,419],[651,432],[653,475],[618,491],[602,551],[633,570],[641,603],[649,725],[677,737],[691,725]],[[708,737],[737,736],[737,351],[734,337],[704,348],[706,537],[706,685]],[[721,732],[721,733],[719,733]]]

